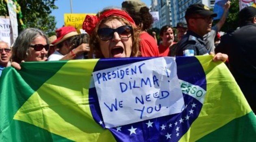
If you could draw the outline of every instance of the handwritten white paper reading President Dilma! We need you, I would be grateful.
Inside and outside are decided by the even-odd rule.
[[[154,58],[93,72],[106,127],[177,114],[184,108],[174,58]]]

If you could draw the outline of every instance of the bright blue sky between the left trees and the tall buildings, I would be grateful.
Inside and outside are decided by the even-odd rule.
[[[97,13],[105,7],[115,6],[121,7],[124,0],[72,0],[73,13]],[[149,7],[151,0],[141,0]],[[56,0],[55,5],[59,9],[53,10],[52,14],[55,16],[57,22],[56,28],[60,28],[64,24],[64,13],[71,13],[70,0]]]

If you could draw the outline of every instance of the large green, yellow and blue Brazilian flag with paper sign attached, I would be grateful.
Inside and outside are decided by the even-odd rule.
[[[212,59],[115,58],[24,62],[20,71],[8,67],[0,77],[0,140],[254,141],[254,113],[226,65]]]

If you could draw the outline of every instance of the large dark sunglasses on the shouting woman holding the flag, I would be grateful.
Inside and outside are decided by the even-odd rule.
[[[113,28],[100,28],[98,35],[102,41],[108,41],[114,37],[114,32],[117,32],[121,38],[128,39],[132,36],[131,26],[120,26],[116,29]]]

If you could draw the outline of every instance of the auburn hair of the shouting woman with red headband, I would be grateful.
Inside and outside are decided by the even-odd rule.
[[[100,15],[102,13],[104,13],[105,11],[108,11],[111,9],[105,9],[102,12],[97,13],[97,16],[100,17]],[[137,57],[138,55],[140,55],[139,52],[139,43],[140,43],[140,29],[138,27],[133,26],[130,22],[128,22],[126,19],[124,19],[123,17],[118,17],[118,16],[109,16],[106,17],[104,19],[102,19],[100,22],[97,23],[95,29],[93,30],[92,34],[90,35],[90,40],[89,40],[89,46],[91,48],[88,57],[89,58],[93,58],[93,55],[95,55],[95,58],[104,58],[101,50],[100,50],[100,37],[98,36],[98,30],[99,27],[102,23],[108,22],[112,19],[117,19],[120,22],[123,22],[124,24],[128,25],[128,26],[132,26],[132,53],[130,57]]]

